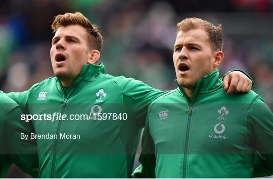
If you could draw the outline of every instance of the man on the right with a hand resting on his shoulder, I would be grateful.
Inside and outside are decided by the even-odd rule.
[[[134,177],[253,177],[259,157],[273,174],[273,114],[254,91],[226,96],[218,79],[221,25],[198,18],[177,24],[173,64],[177,88],[147,113],[141,165]]]

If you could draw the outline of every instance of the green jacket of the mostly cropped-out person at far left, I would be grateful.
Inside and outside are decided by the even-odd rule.
[[[20,122],[23,114],[18,104],[5,94],[0,94],[0,177],[5,177],[12,163],[32,177],[38,176],[36,141],[21,140],[21,133],[28,134],[32,126]]]

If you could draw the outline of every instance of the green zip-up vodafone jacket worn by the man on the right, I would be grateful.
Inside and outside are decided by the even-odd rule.
[[[255,92],[229,96],[218,70],[192,98],[180,87],[151,103],[134,177],[252,177],[255,152],[273,174],[273,114]]]

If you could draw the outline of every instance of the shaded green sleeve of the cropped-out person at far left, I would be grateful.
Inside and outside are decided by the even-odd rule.
[[[38,177],[38,155],[36,140],[30,139],[34,133],[31,123],[21,122],[23,111],[19,106],[5,114],[5,143],[7,161],[16,164],[32,177]],[[28,139],[21,139],[21,134]]]

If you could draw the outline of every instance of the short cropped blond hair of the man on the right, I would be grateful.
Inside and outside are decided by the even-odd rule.
[[[222,37],[222,24],[214,26],[208,21],[199,18],[187,18],[177,23],[177,31],[189,31],[193,29],[203,29],[209,37],[209,43],[214,51],[222,50],[223,37]]]

